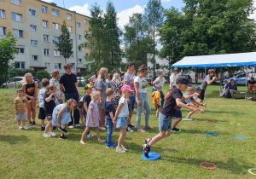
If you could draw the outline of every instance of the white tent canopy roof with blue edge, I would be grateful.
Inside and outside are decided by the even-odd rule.
[[[172,67],[214,68],[256,66],[256,52],[225,55],[185,56]]]

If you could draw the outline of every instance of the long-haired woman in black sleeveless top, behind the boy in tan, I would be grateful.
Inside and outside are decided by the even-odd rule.
[[[27,72],[24,76],[24,83],[22,84],[22,89],[24,91],[24,96],[27,98],[28,103],[26,104],[26,118],[28,124],[36,125],[36,106],[37,106],[37,96],[38,96],[38,84],[32,78],[32,73]],[[32,122],[31,122],[32,115]]]

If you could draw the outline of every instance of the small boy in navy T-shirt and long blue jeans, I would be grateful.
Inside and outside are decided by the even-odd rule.
[[[112,142],[112,134],[113,134],[113,117],[115,114],[115,108],[113,106],[113,102],[111,101],[114,95],[114,90],[108,88],[106,90],[107,100],[105,101],[105,121],[107,124],[107,138],[106,138],[106,145],[107,148],[115,148],[114,143]]]

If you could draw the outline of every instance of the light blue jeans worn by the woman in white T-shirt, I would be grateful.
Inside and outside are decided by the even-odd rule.
[[[148,126],[148,119],[149,119],[149,114],[151,113],[151,109],[149,107],[148,103],[148,94],[147,93],[140,93],[139,94],[140,101],[142,102],[142,106],[139,106],[137,104],[137,129],[141,129],[141,118],[142,118],[142,113],[143,113],[143,108],[145,108],[146,113],[145,113],[145,126]]]

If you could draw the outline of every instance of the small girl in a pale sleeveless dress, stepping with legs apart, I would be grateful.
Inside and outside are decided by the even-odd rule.
[[[82,138],[80,140],[81,144],[85,144],[84,143],[84,137],[90,131],[91,127],[95,127],[98,141],[104,142],[100,138],[99,111],[98,111],[98,104],[96,102],[100,98],[100,93],[98,91],[94,91],[94,92],[91,93],[90,96],[92,98],[92,101],[90,101],[90,104],[89,104],[89,108],[88,108],[89,110],[88,110],[88,113],[87,113],[87,116],[86,116],[86,130],[84,130],[84,133],[83,133]]]

